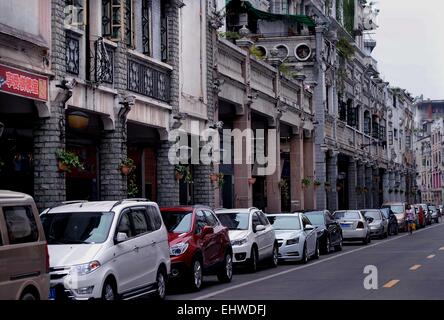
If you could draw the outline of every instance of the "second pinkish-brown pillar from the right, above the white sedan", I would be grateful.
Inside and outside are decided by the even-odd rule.
[[[294,135],[290,141],[290,196],[291,211],[304,208],[304,191],[302,179],[304,178],[304,151],[302,135]]]

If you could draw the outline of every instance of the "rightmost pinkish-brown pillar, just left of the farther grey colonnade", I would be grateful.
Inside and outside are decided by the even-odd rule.
[[[314,168],[314,139],[313,138],[304,138],[303,139],[303,150],[304,150],[304,177],[309,178],[314,181],[315,178],[315,168]],[[325,166],[325,164],[324,164]],[[325,193],[325,192],[324,192]],[[320,203],[319,203],[320,204]],[[312,210],[316,209],[316,195],[315,195],[315,187],[313,183],[304,188],[304,209]],[[323,207],[325,208],[325,207]],[[323,209],[322,208],[322,209]]]

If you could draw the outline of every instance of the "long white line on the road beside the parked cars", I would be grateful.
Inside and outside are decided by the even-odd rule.
[[[443,225],[444,225],[444,224],[435,224],[434,226],[430,226],[430,227],[428,227],[428,228],[426,228],[426,229],[420,229],[420,230],[417,230],[417,231],[415,231],[415,232],[413,233],[412,236],[414,236],[414,234],[416,234],[416,233],[420,233],[420,232],[423,232],[423,231],[427,231],[427,230],[430,230],[430,229],[434,229],[434,228],[436,228],[436,227],[440,227],[440,226],[443,226]],[[295,268],[288,269],[288,270],[285,270],[285,271],[282,271],[282,272],[278,272],[278,273],[275,273],[275,274],[271,274],[271,275],[269,275],[269,276],[265,276],[265,277],[258,278],[258,279],[254,279],[254,280],[250,280],[250,281],[247,281],[247,282],[244,282],[244,283],[239,283],[239,284],[234,285],[234,286],[232,286],[232,287],[228,287],[228,288],[225,288],[225,289],[221,289],[221,290],[218,290],[218,291],[214,291],[214,292],[212,292],[212,293],[208,293],[208,294],[206,294],[206,295],[203,295],[203,296],[200,296],[200,297],[197,297],[197,298],[191,299],[191,300],[205,300],[205,299],[208,299],[208,298],[211,298],[211,297],[217,296],[217,295],[219,295],[219,294],[221,294],[221,293],[225,293],[225,292],[228,292],[228,291],[232,291],[232,290],[235,290],[235,289],[239,289],[239,288],[242,288],[242,287],[246,287],[246,286],[249,286],[249,285],[251,285],[251,284],[258,283],[258,282],[261,282],[261,281],[264,281],[264,280],[273,279],[273,278],[276,278],[276,277],[279,277],[279,276],[282,276],[282,275],[284,275],[284,274],[291,273],[291,272],[294,272],[294,271],[297,271],[297,270],[302,270],[302,269],[310,268],[310,267],[313,267],[313,266],[318,265],[318,264],[323,263],[323,262],[327,262],[327,261],[330,261],[330,260],[334,260],[334,259],[337,259],[337,258],[340,258],[340,257],[346,256],[346,255],[348,255],[348,254],[352,254],[352,253],[355,253],[355,252],[358,252],[358,251],[362,251],[362,250],[365,250],[365,249],[373,248],[373,247],[379,246],[379,245],[381,245],[381,244],[385,244],[385,243],[388,243],[388,242],[391,242],[391,241],[395,241],[395,240],[398,240],[398,239],[401,239],[401,238],[404,238],[404,237],[411,237],[411,236],[407,233],[407,234],[404,234],[404,235],[402,235],[402,236],[398,236],[398,237],[396,237],[396,238],[392,238],[392,239],[384,240],[384,241],[381,241],[381,242],[378,242],[378,243],[375,243],[375,244],[367,245],[367,246],[365,246],[365,247],[361,247],[361,248],[354,249],[354,250],[351,250],[351,251],[347,251],[347,252],[343,252],[343,253],[340,253],[340,254],[336,254],[336,255],[334,255],[334,256],[331,256],[331,257],[328,257],[328,258],[325,258],[325,259],[322,259],[322,260],[316,261],[316,262],[314,262],[314,263],[310,263],[310,264],[307,264],[307,265],[303,265],[303,266],[295,267]]]

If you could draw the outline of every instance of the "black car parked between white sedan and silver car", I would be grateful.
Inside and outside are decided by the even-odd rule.
[[[330,211],[307,211],[304,213],[316,227],[319,247],[322,253],[330,253],[331,250],[342,250],[342,229]]]

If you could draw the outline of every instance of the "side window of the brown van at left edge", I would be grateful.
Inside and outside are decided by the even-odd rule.
[[[31,207],[4,207],[9,244],[35,242],[39,238]]]

